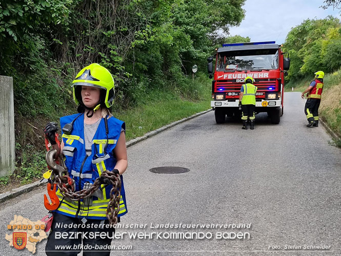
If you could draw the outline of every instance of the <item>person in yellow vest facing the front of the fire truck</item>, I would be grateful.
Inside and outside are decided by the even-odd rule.
[[[248,118],[250,120],[250,129],[254,129],[254,110],[256,107],[256,91],[257,87],[253,85],[253,78],[247,76],[245,84],[240,88],[239,105],[242,105],[242,129],[248,129]]]

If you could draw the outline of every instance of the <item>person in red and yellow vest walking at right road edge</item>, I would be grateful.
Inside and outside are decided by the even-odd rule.
[[[318,107],[321,102],[323,77],[325,76],[323,71],[317,71],[314,74],[315,80],[312,81],[309,87],[301,94],[302,99],[304,99],[304,94],[308,92],[308,99],[304,107],[304,112],[308,119],[307,127],[318,127]]]

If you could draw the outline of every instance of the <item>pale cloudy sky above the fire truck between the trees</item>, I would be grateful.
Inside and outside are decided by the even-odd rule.
[[[328,15],[340,18],[338,9],[319,8],[323,0],[247,0],[243,9],[245,19],[239,27],[230,28],[231,35],[249,36],[251,42],[285,42],[291,28],[307,18],[325,18]]]

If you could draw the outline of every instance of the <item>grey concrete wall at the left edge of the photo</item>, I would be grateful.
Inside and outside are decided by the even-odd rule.
[[[0,75],[0,176],[15,169],[13,78]]]

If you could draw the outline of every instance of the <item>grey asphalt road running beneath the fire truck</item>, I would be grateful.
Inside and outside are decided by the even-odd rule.
[[[262,113],[255,130],[245,131],[233,120],[215,124],[209,112],[128,148],[129,212],[121,224],[146,228],[116,228],[144,238],[115,239],[112,245],[132,250],[111,255],[341,255],[341,150],[330,145],[322,126],[306,127],[304,103],[300,93],[285,93],[279,125]],[[190,171],[149,171],[162,166]],[[0,205],[0,255],[31,255],[8,246],[6,225],[14,214],[32,221],[46,215],[44,192]],[[156,228],[167,223],[186,226]],[[152,232],[159,237],[150,239]],[[243,239],[233,239],[237,233]],[[168,238],[182,234],[186,239]],[[197,234],[205,238],[188,239]],[[45,243],[37,245],[36,255],[45,255]],[[321,245],[329,249],[307,247]]]

